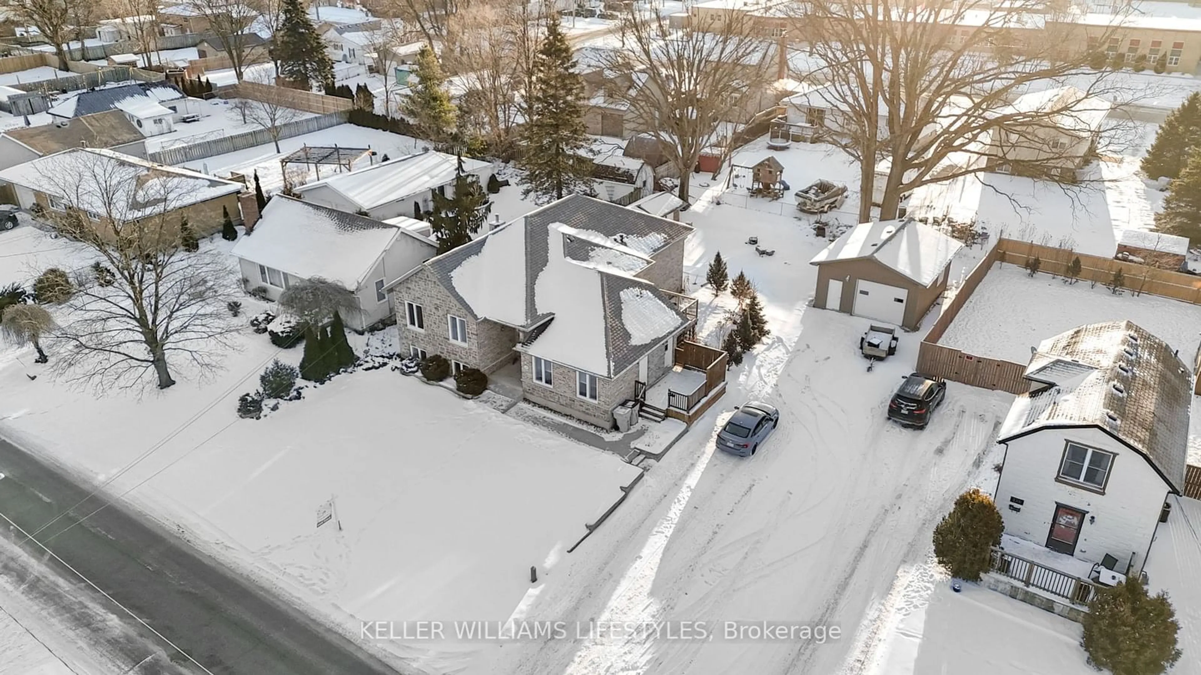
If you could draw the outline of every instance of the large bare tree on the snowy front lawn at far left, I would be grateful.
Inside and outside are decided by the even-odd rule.
[[[237,329],[225,300],[235,276],[215,250],[185,252],[180,211],[205,178],[147,169],[116,153],[74,150],[47,157],[37,171],[60,203],[46,217],[95,255],[94,275],[77,275],[52,339],[55,365],[96,389],[175,383],[187,365],[216,368]]]

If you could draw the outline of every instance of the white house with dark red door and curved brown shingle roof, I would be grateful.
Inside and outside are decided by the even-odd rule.
[[[1184,484],[1190,371],[1166,342],[1115,321],[1045,340],[1026,378],[998,440],[1005,533],[1142,571],[1165,498]]]

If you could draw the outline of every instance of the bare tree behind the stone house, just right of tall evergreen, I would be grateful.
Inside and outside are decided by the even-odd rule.
[[[733,10],[671,29],[658,12],[629,7],[619,30],[622,48],[607,52],[603,65],[640,85],[609,94],[659,142],[680,172],[679,196],[688,201],[693,167],[723,123],[743,124],[759,112],[752,108],[773,79],[778,47],[755,31],[748,13]]]

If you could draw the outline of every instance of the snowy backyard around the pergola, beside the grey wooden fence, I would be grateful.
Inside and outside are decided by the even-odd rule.
[[[336,7],[335,7],[336,8]],[[325,7],[322,7],[324,11]],[[353,124],[342,124],[295,136],[280,141],[280,150],[275,151],[275,145],[256,145],[237,153],[216,155],[195,162],[186,162],[187,168],[202,171],[210,174],[226,175],[229,172],[239,172],[251,175],[258,172],[258,179],[267,192],[279,192],[283,187],[283,173],[280,169],[280,157],[288,153],[294,153],[305,145],[341,145],[345,148],[371,148],[378,153],[375,161],[380,161],[384,155],[392,159],[419,153],[423,145],[407,136],[389,133],[376,129],[366,129]],[[355,167],[358,168],[358,167]],[[324,167],[322,178],[331,175],[333,169]],[[316,172],[310,172],[310,180],[316,179]]]

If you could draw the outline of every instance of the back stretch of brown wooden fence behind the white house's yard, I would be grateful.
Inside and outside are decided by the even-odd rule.
[[[1133,293],[1147,293],[1201,304],[1201,276],[1014,239],[1002,238],[997,241],[997,247],[1004,251],[1006,263],[1014,263],[1018,267],[1024,267],[1027,261],[1036,256],[1040,273],[1064,276],[1072,258],[1078,257],[1081,281],[1109,285],[1113,279],[1113,273],[1121,269],[1124,277],[1123,285]]]

